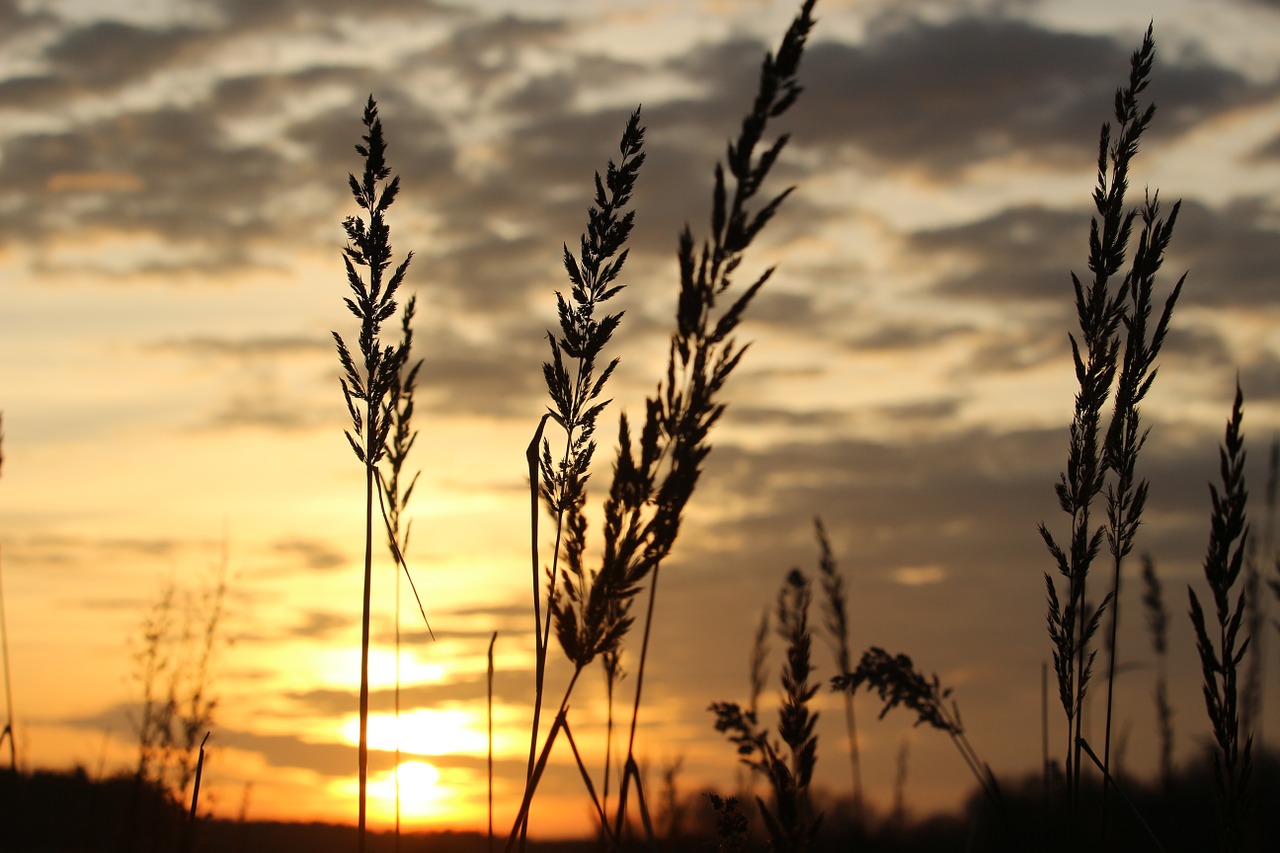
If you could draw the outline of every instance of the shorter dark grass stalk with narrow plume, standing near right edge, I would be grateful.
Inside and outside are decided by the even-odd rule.
[[[1235,386],[1235,402],[1226,434],[1219,451],[1222,491],[1210,484],[1213,505],[1208,551],[1204,555],[1204,580],[1213,598],[1215,638],[1204,620],[1199,597],[1188,584],[1196,649],[1203,672],[1204,707],[1213,730],[1213,781],[1221,815],[1220,849],[1226,853],[1242,849],[1248,802],[1251,753],[1253,738],[1242,731],[1238,701],[1240,662],[1249,648],[1249,638],[1240,637],[1245,593],[1242,589],[1231,601],[1233,587],[1240,578],[1244,551],[1249,538],[1245,521],[1248,492],[1244,487],[1244,394]],[[1240,739],[1244,738],[1242,747]]]

